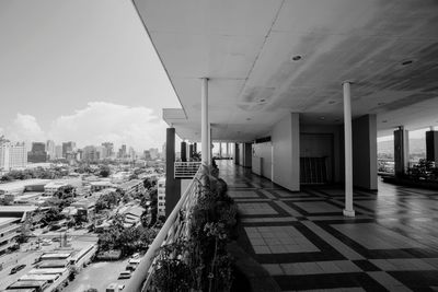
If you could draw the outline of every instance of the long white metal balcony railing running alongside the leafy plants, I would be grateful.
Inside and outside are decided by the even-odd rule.
[[[152,291],[151,280],[154,272],[154,260],[160,253],[160,247],[173,243],[175,240],[185,238],[188,235],[188,217],[193,207],[197,201],[199,188],[199,179],[201,176],[200,164],[197,164],[197,170],[189,183],[187,189],[181,196],[172,213],[166,219],[157,237],[153,240],[140,265],[134,272],[125,291],[127,292],[147,292]]]

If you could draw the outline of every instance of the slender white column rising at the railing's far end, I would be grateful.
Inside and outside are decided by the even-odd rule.
[[[210,164],[210,133],[208,122],[208,79],[203,78],[200,83],[200,142],[201,162],[204,165]]]

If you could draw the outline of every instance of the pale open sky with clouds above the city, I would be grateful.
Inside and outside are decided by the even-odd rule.
[[[129,0],[0,1],[0,136],[161,148],[181,107]]]

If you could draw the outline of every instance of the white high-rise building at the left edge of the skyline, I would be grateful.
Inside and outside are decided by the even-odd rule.
[[[0,170],[9,172],[14,168],[26,167],[27,151],[23,143],[11,143],[0,138]]]

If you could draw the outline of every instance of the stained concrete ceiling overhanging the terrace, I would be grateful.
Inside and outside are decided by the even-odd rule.
[[[215,140],[250,141],[286,113],[301,122],[353,115],[399,125],[438,124],[436,0],[134,0],[180,98],[164,119],[200,139],[200,78],[209,78]],[[300,56],[300,60],[293,60]]]

